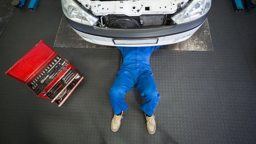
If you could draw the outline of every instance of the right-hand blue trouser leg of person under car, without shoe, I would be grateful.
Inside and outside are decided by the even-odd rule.
[[[141,106],[141,109],[146,115],[153,115],[161,95],[156,89],[156,84],[152,73],[145,72],[141,74],[137,81],[136,87],[140,90],[141,95],[145,98],[145,103]]]

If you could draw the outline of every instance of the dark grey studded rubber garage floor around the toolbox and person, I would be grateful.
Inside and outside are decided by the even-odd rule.
[[[208,16],[214,52],[157,50],[151,64],[162,95],[157,131],[149,135],[137,90],[118,132],[108,90],[120,64],[117,49],[54,48],[86,80],[58,108],[4,75],[39,40],[53,46],[60,0],[41,0],[36,12],[15,9],[0,36],[1,144],[255,144],[256,11],[233,12],[213,0]]]

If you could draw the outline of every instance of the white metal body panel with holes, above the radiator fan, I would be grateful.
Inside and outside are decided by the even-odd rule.
[[[109,14],[124,14],[126,16],[140,16],[145,14],[173,14],[178,5],[185,6],[189,0],[122,0],[99,1],[77,0],[95,16]]]

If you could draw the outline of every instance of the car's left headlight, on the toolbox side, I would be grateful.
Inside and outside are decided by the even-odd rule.
[[[94,25],[98,18],[82,9],[74,0],[61,0],[62,10],[66,17],[77,23]]]

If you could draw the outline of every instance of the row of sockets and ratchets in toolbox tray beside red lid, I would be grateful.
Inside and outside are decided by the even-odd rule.
[[[29,86],[32,90],[39,94],[42,90],[65,69],[68,62],[56,56],[37,76],[33,79]]]

